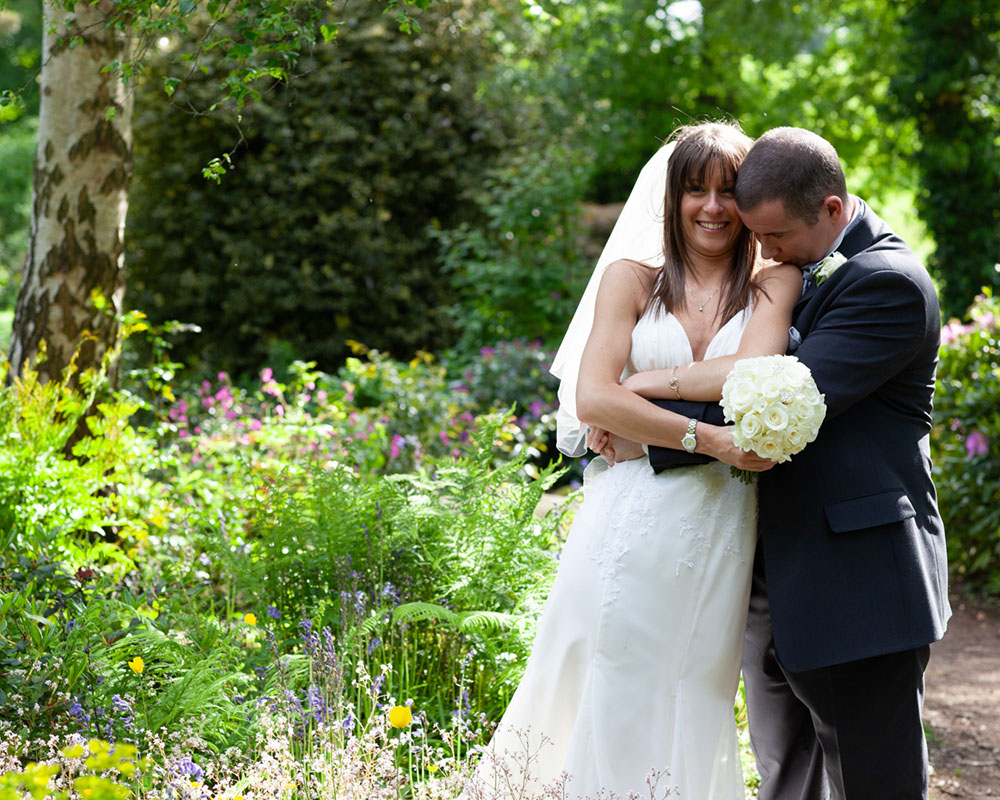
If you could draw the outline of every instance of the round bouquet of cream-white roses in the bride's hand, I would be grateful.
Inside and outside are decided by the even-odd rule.
[[[826,403],[809,367],[795,356],[737,361],[722,387],[722,410],[736,423],[733,441],[763,458],[788,461],[819,433]],[[732,467],[744,483],[753,473]]]

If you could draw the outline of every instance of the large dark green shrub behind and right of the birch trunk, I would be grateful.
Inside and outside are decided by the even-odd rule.
[[[489,18],[442,8],[405,35],[373,4],[338,7],[336,41],[242,119],[220,185],[200,173],[232,122],[186,108],[220,76],[189,79],[169,111],[155,70],[140,87],[129,303],[201,327],[181,360],[240,375],[291,352],[329,371],[348,338],[403,357],[454,339],[428,230],[469,216],[464,192],[516,119],[479,99]]]

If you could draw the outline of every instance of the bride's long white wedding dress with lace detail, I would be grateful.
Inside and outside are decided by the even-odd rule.
[[[749,316],[705,358],[735,352]],[[627,370],[691,361],[673,315],[639,320]],[[640,458],[588,480],[524,678],[465,797],[534,797],[565,772],[570,798],[648,798],[646,776],[669,770],[657,797],[743,798],[733,700],[756,514],[755,487],[719,463],[654,475]],[[528,753],[527,788],[512,788]]]

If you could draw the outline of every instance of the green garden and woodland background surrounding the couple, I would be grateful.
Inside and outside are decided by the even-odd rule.
[[[454,797],[572,516],[595,220],[693,120],[827,137],[925,260],[1000,597],[995,0],[44,8],[0,2],[3,800]]]

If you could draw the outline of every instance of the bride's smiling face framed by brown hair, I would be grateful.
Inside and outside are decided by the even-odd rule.
[[[734,176],[719,165],[711,166],[704,180],[691,180],[681,195],[681,227],[692,255],[709,258],[733,249],[743,229],[736,200]]]

